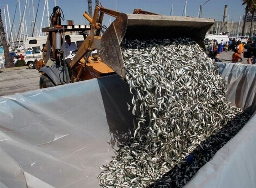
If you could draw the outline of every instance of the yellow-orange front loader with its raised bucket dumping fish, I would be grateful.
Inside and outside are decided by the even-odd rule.
[[[97,20],[98,13],[99,19]],[[104,28],[102,25],[104,14],[116,18],[108,28]],[[214,24],[214,19],[164,16],[143,11],[142,9],[134,9],[133,14],[126,14],[99,6],[95,7],[93,17],[90,17],[87,13],[84,13],[83,16],[91,24],[90,34],[87,35],[72,60],[60,63],[60,66],[63,66],[61,69],[59,66],[46,66],[39,70],[43,74],[40,79],[41,88],[78,82],[113,73],[117,73],[124,78],[124,62],[120,47],[124,39],[189,37],[205,49],[205,34]],[[51,30],[63,31],[63,28],[60,27],[59,25],[52,26]],[[106,31],[103,32],[103,29],[106,29]],[[103,34],[101,35],[102,32]],[[52,38],[54,38],[54,35],[52,35]],[[52,54],[55,56],[53,58],[57,59],[57,53],[53,53],[56,52],[53,40],[51,44]],[[51,46],[48,45],[49,47]],[[95,49],[99,53],[92,55]],[[50,52],[47,52],[48,58],[45,58],[45,62],[50,59]],[[59,70],[61,74],[59,74]],[[45,80],[47,83],[44,82]],[[49,84],[49,82],[52,83]]]

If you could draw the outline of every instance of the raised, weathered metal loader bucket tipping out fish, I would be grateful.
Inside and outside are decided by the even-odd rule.
[[[204,50],[204,37],[214,19],[120,13],[101,38],[101,59],[124,78],[123,39],[192,38]]]

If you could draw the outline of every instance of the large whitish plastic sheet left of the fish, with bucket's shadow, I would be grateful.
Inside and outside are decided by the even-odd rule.
[[[98,187],[132,125],[130,96],[113,75],[0,97],[0,187]]]

